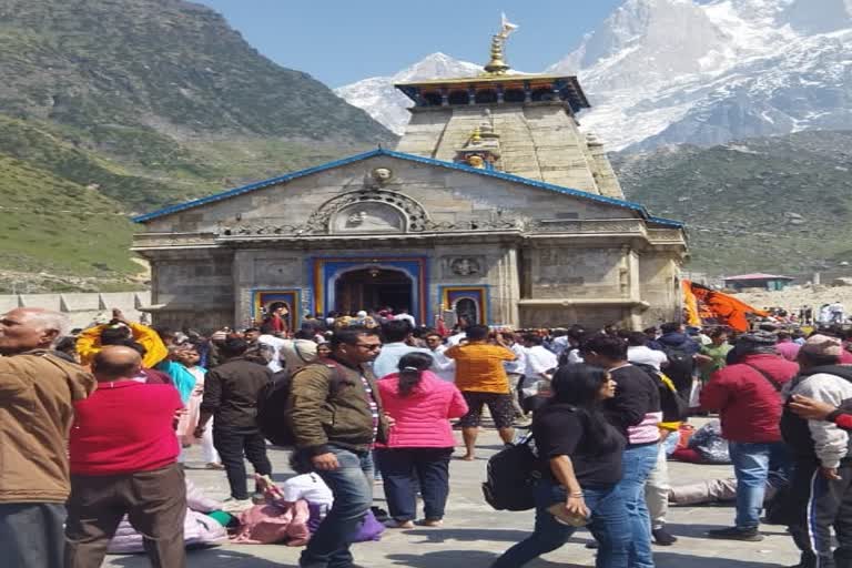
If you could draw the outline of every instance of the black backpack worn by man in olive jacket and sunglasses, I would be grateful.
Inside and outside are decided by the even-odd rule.
[[[328,396],[332,396],[345,382],[339,365],[331,359],[316,364],[332,369],[332,378],[328,381]],[[275,446],[293,447],[296,444],[286,412],[293,378],[297,374],[291,375],[286,369],[275,373],[257,396],[257,427],[263,437]]]

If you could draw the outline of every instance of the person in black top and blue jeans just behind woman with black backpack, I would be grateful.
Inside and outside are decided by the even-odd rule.
[[[618,385],[604,412],[627,438],[622,456],[623,476],[616,490],[627,506],[630,521],[630,568],[653,568],[651,519],[645,491],[659,458],[660,394],[653,379],[627,359],[627,342],[602,334],[590,336],[580,347],[590,365],[607,369]]]

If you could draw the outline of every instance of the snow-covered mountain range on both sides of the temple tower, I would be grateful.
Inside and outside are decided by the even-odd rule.
[[[479,71],[436,54],[337,93],[402,132],[392,83],[422,64],[410,79]],[[852,129],[852,0],[626,0],[547,71],[579,75],[612,150]]]

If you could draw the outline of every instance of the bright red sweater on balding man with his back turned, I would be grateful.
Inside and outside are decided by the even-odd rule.
[[[89,398],[74,404],[71,473],[118,475],[175,463],[180,447],[174,413],[182,407],[171,385],[99,383]]]

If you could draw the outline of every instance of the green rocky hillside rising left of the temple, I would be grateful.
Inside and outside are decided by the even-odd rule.
[[[0,0],[0,205],[20,221],[0,287],[18,270],[120,281],[128,214],[395,141],[182,0]],[[61,224],[27,221],[51,200]]]

